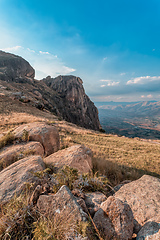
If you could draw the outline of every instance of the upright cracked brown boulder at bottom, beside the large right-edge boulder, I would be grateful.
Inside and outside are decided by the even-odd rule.
[[[128,204],[109,197],[95,213],[93,221],[104,239],[132,239],[133,214]]]

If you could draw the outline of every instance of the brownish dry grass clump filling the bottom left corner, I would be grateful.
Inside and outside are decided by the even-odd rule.
[[[0,239],[32,239],[38,214],[28,205],[29,194],[26,190],[0,207]]]

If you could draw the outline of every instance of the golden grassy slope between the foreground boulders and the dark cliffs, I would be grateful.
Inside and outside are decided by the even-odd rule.
[[[113,185],[143,174],[160,176],[160,141],[130,139],[83,129],[18,100],[0,98],[0,133],[35,121],[47,122],[59,129],[61,148],[76,143],[88,146],[93,151],[94,172],[105,174]]]

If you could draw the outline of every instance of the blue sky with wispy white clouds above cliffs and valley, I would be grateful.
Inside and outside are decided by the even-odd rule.
[[[160,101],[159,0],[0,0],[0,49],[94,102]]]

